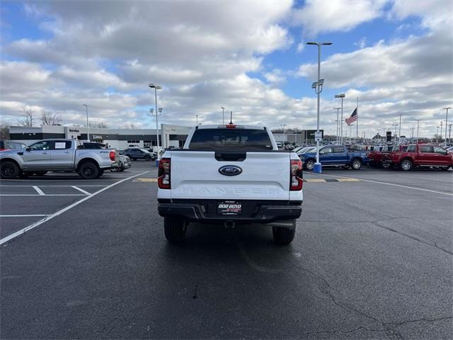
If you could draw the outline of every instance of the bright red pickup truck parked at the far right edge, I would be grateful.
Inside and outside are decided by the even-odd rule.
[[[399,166],[404,171],[415,166],[440,166],[448,170],[453,166],[453,154],[437,145],[409,145],[401,152],[391,152],[383,162]]]

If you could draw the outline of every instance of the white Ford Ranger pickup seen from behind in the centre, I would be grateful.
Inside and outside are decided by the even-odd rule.
[[[165,236],[180,242],[190,222],[273,227],[277,244],[294,239],[302,213],[302,161],[279,151],[255,125],[200,125],[183,149],[159,162],[158,209]]]

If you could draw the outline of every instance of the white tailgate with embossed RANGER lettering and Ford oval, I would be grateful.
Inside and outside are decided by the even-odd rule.
[[[216,152],[172,151],[171,198],[289,200],[289,153],[243,152],[226,159]],[[222,166],[233,166],[235,174],[222,174]]]

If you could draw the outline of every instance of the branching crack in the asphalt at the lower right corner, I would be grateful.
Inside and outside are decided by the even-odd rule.
[[[365,312],[362,312],[362,311],[358,310],[355,307],[352,307],[351,305],[343,305],[342,303],[338,302],[336,300],[336,297],[331,292],[331,290],[335,290],[335,288],[333,288],[333,286],[331,286],[331,284],[328,283],[328,281],[325,278],[323,278],[322,276],[319,276],[318,274],[314,273],[314,271],[311,271],[311,270],[309,270],[307,268],[304,268],[303,266],[297,266],[294,263],[293,263],[293,266],[295,266],[295,267],[297,267],[299,269],[302,269],[303,271],[306,271],[307,273],[310,273],[312,276],[314,276],[314,277],[318,278],[319,280],[321,280],[323,285],[326,286],[326,289],[322,289],[322,288],[318,287],[318,290],[321,293],[323,293],[325,295],[328,295],[328,297],[331,298],[331,300],[333,301],[333,303],[335,305],[337,305],[338,307],[340,307],[341,309],[343,309],[343,310],[345,310],[345,311],[347,311],[349,313],[354,312],[356,314],[362,315],[362,317],[367,317],[368,319],[372,319],[372,322],[377,322],[378,324],[381,324],[381,326],[382,326],[381,329],[372,329],[372,328],[368,328],[368,327],[360,325],[359,327],[355,327],[353,329],[348,329],[348,330],[331,329],[331,330],[310,331],[310,332],[306,332],[305,335],[322,334],[322,333],[327,333],[327,334],[353,333],[353,332],[358,331],[360,329],[364,329],[364,330],[367,330],[367,331],[385,332],[386,336],[389,339],[402,340],[403,339],[402,334],[399,331],[397,331],[395,328],[399,327],[399,326],[401,326],[403,324],[410,324],[410,323],[414,323],[414,322],[437,322],[437,321],[442,321],[442,320],[445,320],[445,319],[453,319],[453,317],[438,317],[438,318],[432,318],[432,319],[427,318],[427,317],[422,317],[420,319],[404,320],[402,322],[384,322],[384,321],[381,321],[381,320],[377,319],[376,317],[372,317],[371,315],[366,314]]]

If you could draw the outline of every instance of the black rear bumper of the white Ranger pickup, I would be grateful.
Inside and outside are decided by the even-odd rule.
[[[163,217],[180,217],[190,222],[210,222],[222,224],[226,221],[240,223],[270,223],[279,220],[297,219],[302,214],[302,202],[285,204],[268,204],[247,201],[254,206],[251,211],[244,211],[241,215],[217,215],[212,211],[209,203],[159,203],[159,215]]]

